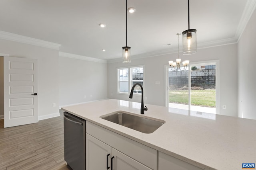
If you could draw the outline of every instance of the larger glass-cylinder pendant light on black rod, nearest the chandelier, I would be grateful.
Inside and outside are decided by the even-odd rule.
[[[182,32],[183,54],[196,53],[196,29],[190,29],[189,23],[189,0],[188,0],[188,29]]]

